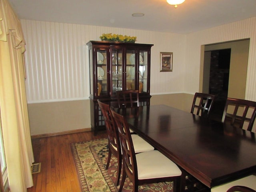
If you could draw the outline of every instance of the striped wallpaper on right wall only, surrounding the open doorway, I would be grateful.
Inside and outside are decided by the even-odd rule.
[[[186,36],[186,75],[184,76],[186,83],[184,92],[194,93],[198,90],[201,45],[245,38],[250,38],[245,98],[256,101],[256,17]]]

